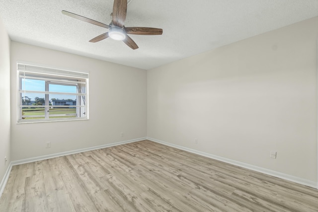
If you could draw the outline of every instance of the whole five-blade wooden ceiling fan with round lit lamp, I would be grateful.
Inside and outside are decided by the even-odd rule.
[[[95,43],[105,38],[114,40],[122,40],[127,46],[132,49],[138,49],[137,44],[127,34],[132,35],[161,35],[162,29],[150,27],[125,27],[124,22],[127,14],[127,0],[114,0],[113,12],[111,13],[111,22],[109,25],[86,18],[84,16],[62,10],[62,13],[79,20],[95,24],[108,29],[108,32],[98,35],[89,42]]]

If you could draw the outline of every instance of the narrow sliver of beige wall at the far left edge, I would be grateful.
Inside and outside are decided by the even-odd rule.
[[[10,162],[10,39],[0,19],[0,183]],[[4,163],[4,157],[8,161]]]

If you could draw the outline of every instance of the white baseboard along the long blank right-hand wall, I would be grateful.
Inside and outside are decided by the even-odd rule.
[[[292,182],[295,182],[295,183],[299,183],[299,184],[302,184],[302,185],[305,185],[305,186],[310,186],[310,187],[318,189],[318,182],[306,180],[306,179],[303,179],[303,178],[300,178],[300,177],[284,174],[284,173],[273,171],[273,170],[270,170],[270,169],[265,169],[265,168],[254,166],[254,165],[250,165],[250,164],[247,164],[247,163],[242,163],[242,162],[239,162],[239,161],[236,161],[236,160],[228,159],[228,158],[225,158],[225,157],[220,157],[220,156],[217,156],[217,155],[209,154],[209,153],[206,153],[206,152],[198,151],[198,150],[195,150],[195,149],[187,148],[187,147],[184,147],[184,146],[176,145],[176,144],[165,142],[165,141],[160,141],[160,140],[153,139],[153,138],[147,138],[147,140],[154,141],[154,142],[157,142],[157,143],[161,143],[161,144],[164,144],[164,145],[167,145],[167,146],[175,147],[175,148],[178,148],[178,149],[181,149],[181,150],[184,150],[184,151],[192,152],[192,153],[199,154],[199,155],[202,155],[202,156],[205,156],[205,157],[209,157],[209,158],[212,158],[212,159],[220,160],[222,162],[230,163],[232,165],[236,165],[236,166],[239,166],[239,167],[242,167],[242,168],[250,169],[250,170],[257,171],[257,172],[260,172],[260,173],[263,173],[263,174],[268,174],[268,175],[271,175],[271,176],[274,176],[274,177],[278,177],[278,178],[281,178],[281,179],[284,179],[284,180],[289,180],[289,181],[292,181]]]

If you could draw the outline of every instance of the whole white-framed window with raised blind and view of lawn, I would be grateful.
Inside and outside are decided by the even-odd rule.
[[[88,73],[17,63],[18,122],[87,119]]]

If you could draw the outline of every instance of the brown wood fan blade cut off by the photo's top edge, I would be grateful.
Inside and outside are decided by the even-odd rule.
[[[114,0],[113,23],[122,28],[126,20],[127,0]]]

